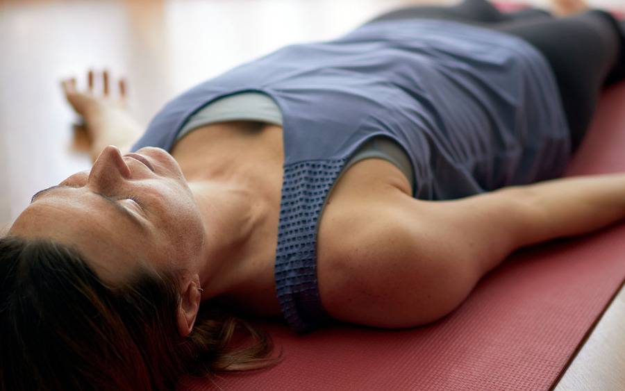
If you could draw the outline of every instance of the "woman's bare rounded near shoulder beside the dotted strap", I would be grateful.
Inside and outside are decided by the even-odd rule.
[[[363,160],[328,198],[317,233],[317,281],[322,306],[335,319],[381,327],[425,324],[456,306],[444,279],[466,285],[460,278],[449,281],[450,263],[431,251],[438,243],[419,238],[410,224],[408,216],[419,209],[428,215],[431,203],[413,199],[389,179],[400,176],[390,163]]]

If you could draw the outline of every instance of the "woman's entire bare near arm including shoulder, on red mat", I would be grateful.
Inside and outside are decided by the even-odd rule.
[[[558,178],[446,201],[397,190],[363,206],[350,211],[337,229],[349,235],[317,265],[324,308],[346,322],[419,326],[460,305],[515,249],[624,219],[625,174]]]

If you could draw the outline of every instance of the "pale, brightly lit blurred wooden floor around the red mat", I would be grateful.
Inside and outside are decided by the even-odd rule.
[[[60,79],[106,67],[143,124],[168,99],[285,44],[328,40],[406,4],[457,0],[0,0],[0,233],[37,190],[88,169]],[[588,1],[625,11],[625,0]],[[544,6],[546,0],[531,0]],[[621,292],[556,390],[625,390]]]

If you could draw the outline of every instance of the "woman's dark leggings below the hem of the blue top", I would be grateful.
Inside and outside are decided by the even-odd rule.
[[[532,44],[547,58],[556,76],[574,151],[590,125],[601,88],[625,76],[625,33],[603,10],[555,18],[537,8],[501,13],[486,0],[465,0],[451,7],[400,8],[367,23],[410,18],[448,19],[492,28]]]

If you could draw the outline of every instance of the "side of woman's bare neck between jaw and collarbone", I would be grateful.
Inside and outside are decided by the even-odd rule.
[[[249,188],[233,182],[190,182],[206,232],[200,282],[203,299],[224,297],[245,285],[255,257],[265,254],[259,238],[269,215],[266,202]],[[256,260],[258,262],[258,259]]]

